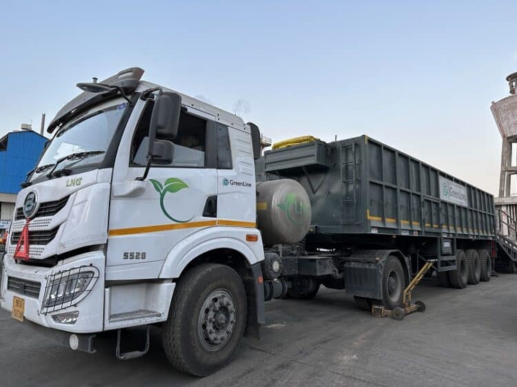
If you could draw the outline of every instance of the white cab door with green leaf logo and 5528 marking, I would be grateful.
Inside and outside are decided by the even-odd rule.
[[[162,138],[174,142],[172,163],[153,163],[145,190],[129,188],[147,163],[152,106],[135,106],[141,113],[130,118],[135,129],[126,129],[114,164],[106,280],[157,278],[175,244],[216,225],[215,123],[195,111],[181,112],[175,139]]]

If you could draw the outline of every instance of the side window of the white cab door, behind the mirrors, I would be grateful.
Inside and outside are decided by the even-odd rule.
[[[149,125],[153,103],[145,106],[139,124],[134,132],[131,145],[131,165],[147,164]],[[172,163],[153,163],[167,167],[205,167],[206,125],[203,118],[181,112],[178,135],[174,139],[174,157]],[[172,138],[158,138],[172,140]]]

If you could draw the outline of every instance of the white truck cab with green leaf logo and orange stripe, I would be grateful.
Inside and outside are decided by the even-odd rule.
[[[207,375],[264,322],[256,127],[142,74],[78,84],[50,123],[17,196],[0,306],[90,353],[97,333],[163,323],[174,366]]]

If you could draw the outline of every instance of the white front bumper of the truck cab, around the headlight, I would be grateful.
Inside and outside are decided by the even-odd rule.
[[[66,271],[79,266],[95,266],[99,270],[99,279],[92,287],[90,293],[77,304],[60,309],[41,313],[43,296],[47,278],[59,271]],[[104,265],[105,256],[102,251],[91,251],[76,255],[67,260],[60,261],[54,267],[46,268],[17,264],[12,255],[3,258],[3,273],[0,284],[0,306],[7,311],[12,311],[13,297],[21,297],[25,300],[24,318],[41,326],[67,331],[70,333],[97,333],[103,331],[103,310],[104,310]],[[20,280],[38,282],[41,284],[38,297],[21,294],[8,289],[8,278],[14,277]],[[75,324],[60,324],[52,319],[53,315],[79,311],[79,317]]]

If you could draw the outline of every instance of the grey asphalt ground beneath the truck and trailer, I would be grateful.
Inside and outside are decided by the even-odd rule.
[[[516,296],[517,275],[464,290],[425,279],[415,299],[427,311],[403,321],[372,317],[343,291],[275,300],[263,339],[245,339],[230,366],[204,379],[169,366],[158,328],[148,355],[121,362],[114,335],[99,340],[94,355],[74,353],[1,310],[0,385],[516,386]]]

